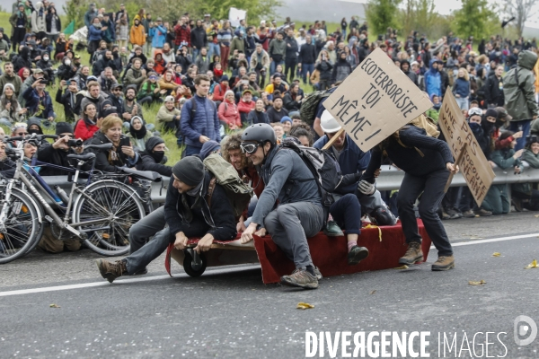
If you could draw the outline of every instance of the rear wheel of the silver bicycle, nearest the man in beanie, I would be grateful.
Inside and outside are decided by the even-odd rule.
[[[146,213],[134,189],[116,180],[100,180],[84,189],[73,209],[76,227],[88,238],[88,248],[103,256],[122,256],[129,251],[129,228]],[[84,224],[84,222],[98,221]]]

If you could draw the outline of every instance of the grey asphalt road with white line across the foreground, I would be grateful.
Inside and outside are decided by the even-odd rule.
[[[487,341],[489,357],[539,357],[539,337],[517,346],[513,332],[520,315],[539,324],[539,268],[524,268],[539,259],[539,218],[522,213],[445,224],[454,270],[431,272],[426,263],[328,277],[316,291],[262,285],[260,268],[252,266],[208,268],[199,278],[176,266],[170,278],[163,258],[148,275],[109,285],[89,250],[32,253],[0,267],[0,358],[303,358],[307,331],[328,331],[331,340],[338,331],[430,332],[430,357],[487,357]],[[523,238],[508,240],[516,236]],[[503,241],[485,241],[494,238]],[[468,284],[480,280],[486,284]],[[65,287],[51,290],[58,285]],[[298,302],[314,309],[297,310]],[[528,325],[526,335],[532,330]],[[419,344],[417,338],[413,348]],[[342,357],[340,342],[337,349]],[[330,357],[327,346],[323,355]]]

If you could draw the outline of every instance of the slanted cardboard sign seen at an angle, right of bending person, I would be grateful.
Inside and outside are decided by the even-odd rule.
[[[482,149],[473,136],[472,129],[464,119],[463,111],[456,104],[450,89],[447,89],[444,96],[438,125],[446,137],[453,157],[460,158],[459,163],[457,163],[460,171],[473,198],[481,206],[496,175],[482,153]]]

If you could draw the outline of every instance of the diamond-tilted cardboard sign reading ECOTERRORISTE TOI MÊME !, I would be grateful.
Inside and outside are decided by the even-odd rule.
[[[367,152],[432,107],[380,48],[376,48],[323,102],[334,118]]]

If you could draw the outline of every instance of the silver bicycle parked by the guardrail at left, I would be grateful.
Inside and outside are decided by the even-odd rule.
[[[137,191],[117,180],[125,180],[128,176],[94,173],[95,153],[68,154],[68,158],[77,161],[75,169],[33,161],[32,165],[70,172],[68,181],[72,181],[72,186],[69,195],[58,186],[55,192],[37,171],[24,165],[23,144],[44,138],[57,139],[57,136],[32,135],[4,140],[10,143],[19,141],[19,144],[12,149],[17,155],[15,174],[13,179],[7,181],[0,195],[0,264],[20,258],[35,249],[41,239],[45,221],[50,223],[51,232],[57,239],[66,239],[67,233],[84,241],[96,253],[105,256],[126,254],[129,250],[130,226],[146,215]],[[110,149],[111,146],[91,144],[85,148]],[[90,171],[81,170],[86,162],[91,162]],[[88,175],[84,184],[78,181],[82,173]],[[45,197],[57,211],[64,214],[63,218],[57,215]]]

